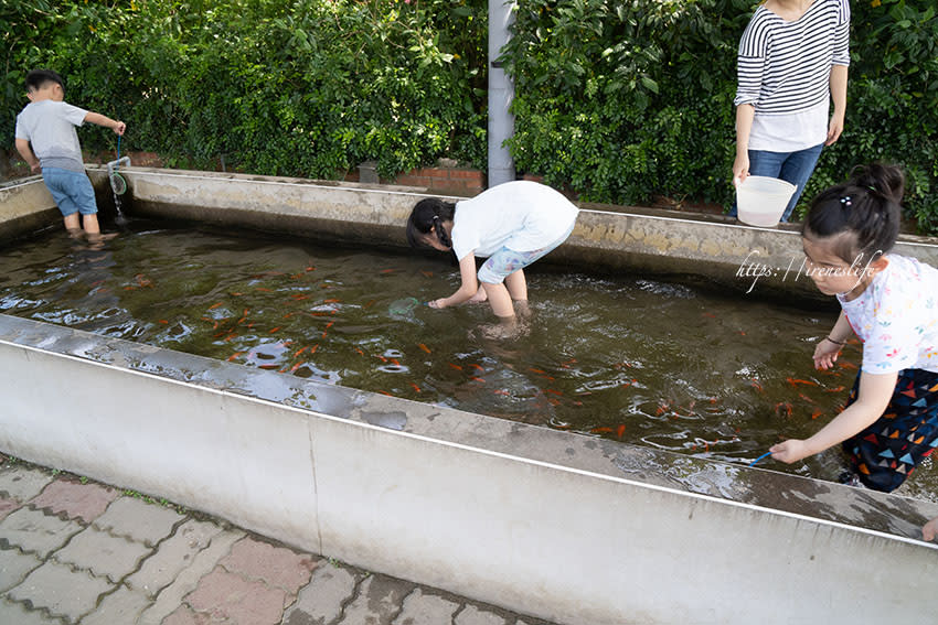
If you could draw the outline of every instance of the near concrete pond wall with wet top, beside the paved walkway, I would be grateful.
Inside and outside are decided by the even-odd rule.
[[[889,614],[935,606],[921,502],[6,315],[0,373],[4,452],[558,623],[856,622],[885,610],[875,570]],[[788,603],[819,583],[829,613]]]

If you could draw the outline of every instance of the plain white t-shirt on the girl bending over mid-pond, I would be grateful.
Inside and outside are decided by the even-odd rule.
[[[525,180],[505,182],[456,203],[452,250],[459,260],[472,252],[488,257],[502,247],[534,251],[564,236],[578,213],[550,186]]]

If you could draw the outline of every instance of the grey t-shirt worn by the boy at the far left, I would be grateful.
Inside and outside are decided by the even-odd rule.
[[[17,139],[32,144],[43,169],[61,168],[84,172],[82,146],[75,127],[88,114],[83,108],[56,100],[30,103],[17,116]]]

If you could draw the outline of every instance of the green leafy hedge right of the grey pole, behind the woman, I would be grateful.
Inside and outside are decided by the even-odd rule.
[[[516,166],[617,204],[732,202],[736,46],[750,0],[520,0],[503,60]],[[886,160],[938,234],[938,19],[931,3],[852,2],[845,130],[803,197]]]

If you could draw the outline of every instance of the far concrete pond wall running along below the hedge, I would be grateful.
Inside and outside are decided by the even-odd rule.
[[[426,188],[130,168],[130,214],[406,247],[404,224]],[[105,172],[89,168],[104,184]],[[451,197],[458,201],[459,197]],[[895,251],[938,265],[935,239]],[[819,299],[804,274],[798,227],[755,228],[722,216],[585,204],[571,238],[545,261],[590,271],[705,277],[738,292]],[[829,301],[829,298],[824,298]]]

